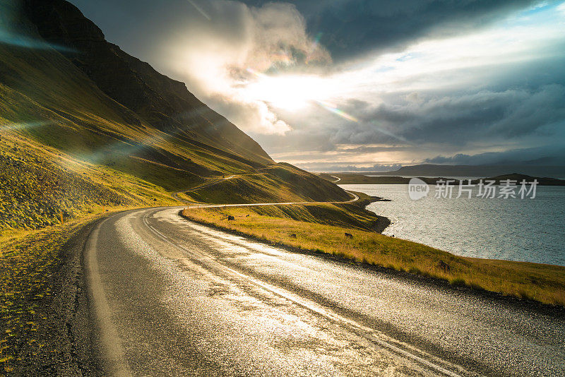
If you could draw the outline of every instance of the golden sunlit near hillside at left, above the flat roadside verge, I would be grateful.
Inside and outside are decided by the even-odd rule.
[[[159,186],[14,133],[4,133],[0,141],[0,181],[0,235],[107,208],[175,203]]]

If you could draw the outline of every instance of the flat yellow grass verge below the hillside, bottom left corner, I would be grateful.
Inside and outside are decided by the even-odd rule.
[[[43,346],[39,330],[53,313],[41,303],[57,294],[54,274],[61,247],[87,222],[89,215],[41,230],[14,231],[0,239],[0,375],[13,371],[19,350]]]

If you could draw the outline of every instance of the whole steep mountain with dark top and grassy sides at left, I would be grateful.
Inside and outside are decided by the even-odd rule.
[[[11,184],[0,196],[13,212],[0,228],[23,226],[13,219],[30,208],[47,214],[37,223],[48,224],[87,204],[168,203],[167,192],[231,175],[237,180],[225,190],[239,183],[241,201],[349,198],[314,174],[273,162],[184,83],[107,42],[67,1],[0,0],[0,11],[0,169],[16,174],[2,176]],[[56,173],[40,174],[42,167]],[[66,200],[62,182],[84,189]],[[31,203],[43,188],[45,201]]]

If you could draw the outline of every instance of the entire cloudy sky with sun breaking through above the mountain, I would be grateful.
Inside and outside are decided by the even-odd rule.
[[[565,2],[71,0],[276,161],[565,165]]]

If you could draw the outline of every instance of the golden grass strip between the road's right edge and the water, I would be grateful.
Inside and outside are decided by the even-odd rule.
[[[321,210],[336,214],[336,210]],[[294,210],[282,208],[200,208],[184,210],[184,215],[198,222],[249,234],[275,244],[306,251],[322,251],[359,263],[408,271],[453,285],[533,299],[545,304],[565,305],[565,267],[511,261],[463,258],[446,251],[403,239],[386,237],[362,229],[349,216],[335,221],[310,216],[307,206]],[[349,212],[348,212],[349,213]],[[235,221],[228,221],[232,215]],[[248,216],[249,215],[249,216]],[[353,234],[346,239],[344,233]],[[293,238],[290,235],[296,234]]]

